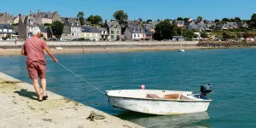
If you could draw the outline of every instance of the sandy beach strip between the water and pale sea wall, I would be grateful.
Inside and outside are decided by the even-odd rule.
[[[69,54],[90,54],[90,53],[123,53],[123,52],[140,52],[140,51],[168,51],[178,50],[180,47],[158,47],[158,48],[107,48],[107,49],[91,49],[91,48],[77,48],[77,49],[51,49],[55,55],[69,55]],[[186,49],[212,49],[211,47],[197,47],[186,46]],[[214,48],[213,48],[214,49]],[[0,49],[0,56],[20,56],[21,49]]]

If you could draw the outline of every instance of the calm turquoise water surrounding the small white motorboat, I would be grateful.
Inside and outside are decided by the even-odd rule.
[[[108,105],[108,98],[48,60],[48,89],[147,127],[255,127],[256,49],[203,49],[134,53],[56,55],[73,72],[101,90],[199,91],[212,84],[207,113],[153,116]],[[0,57],[0,71],[31,83],[25,57]]]

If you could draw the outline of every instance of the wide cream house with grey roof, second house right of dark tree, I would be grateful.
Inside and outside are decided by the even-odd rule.
[[[99,41],[102,38],[101,32],[94,26],[82,26],[82,32],[81,38],[84,39]]]

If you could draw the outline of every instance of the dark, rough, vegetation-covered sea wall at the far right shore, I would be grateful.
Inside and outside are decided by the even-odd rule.
[[[199,47],[213,47],[213,48],[242,48],[242,47],[254,47],[255,41],[243,42],[243,41],[201,41],[197,44]]]

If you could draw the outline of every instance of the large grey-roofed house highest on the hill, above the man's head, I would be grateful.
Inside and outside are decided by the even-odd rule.
[[[61,21],[61,16],[57,11],[54,13],[41,12],[40,10],[38,10],[38,13],[32,13],[32,11],[30,11],[30,16],[32,16],[39,25],[52,24],[55,20]]]

